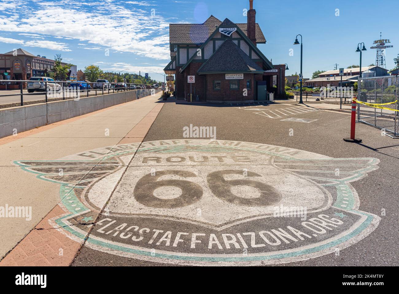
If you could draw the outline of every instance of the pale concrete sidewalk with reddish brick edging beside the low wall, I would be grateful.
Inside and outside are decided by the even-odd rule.
[[[16,161],[53,162],[79,153],[93,157],[84,152],[100,147],[112,152],[116,145],[141,143],[164,105],[161,94],[0,139],[0,207],[32,207],[30,220],[0,219],[0,258],[15,247],[0,265],[69,265],[81,246],[50,225],[51,218],[65,213],[60,205],[59,183],[36,179]],[[98,163],[106,156],[98,157]],[[95,163],[93,169],[97,167]],[[81,173],[82,179],[89,173],[93,174],[91,170]]]

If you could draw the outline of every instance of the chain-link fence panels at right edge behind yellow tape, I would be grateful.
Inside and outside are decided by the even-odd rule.
[[[365,77],[358,80],[358,100],[368,103],[390,103],[399,100],[399,76]],[[398,102],[383,107],[399,109]],[[387,135],[399,136],[399,112],[358,103],[358,121],[383,129]]]

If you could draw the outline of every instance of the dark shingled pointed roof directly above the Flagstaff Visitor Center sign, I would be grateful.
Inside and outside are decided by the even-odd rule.
[[[264,70],[233,41],[225,40],[198,70],[198,74],[216,72],[258,72],[262,74]]]

